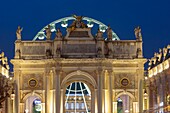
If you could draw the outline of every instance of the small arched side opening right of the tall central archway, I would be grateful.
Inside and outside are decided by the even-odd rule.
[[[133,101],[132,98],[123,94],[117,98],[117,113],[133,113]]]

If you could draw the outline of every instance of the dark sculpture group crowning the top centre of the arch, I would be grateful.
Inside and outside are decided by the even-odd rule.
[[[76,19],[75,21],[73,21],[73,23],[71,24],[70,28],[71,30],[75,30],[76,28],[87,28],[87,25],[82,22],[83,16],[76,16],[73,15],[73,17]]]

